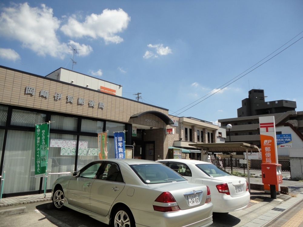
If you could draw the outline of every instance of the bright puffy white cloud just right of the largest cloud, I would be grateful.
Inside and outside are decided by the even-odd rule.
[[[68,18],[68,23],[63,25],[61,31],[70,37],[103,38],[105,43],[120,43],[123,39],[115,35],[122,32],[128,26],[131,18],[122,9],[103,10],[102,14],[86,16],[84,22],[77,21],[75,15]]]

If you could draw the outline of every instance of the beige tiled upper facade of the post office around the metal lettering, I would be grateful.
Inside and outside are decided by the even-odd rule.
[[[25,94],[26,86],[35,88],[35,95]],[[42,89],[48,90],[48,98],[39,96],[40,90]],[[62,94],[60,100],[54,99],[56,92]],[[67,95],[74,97],[73,103],[67,102]],[[84,105],[78,104],[79,97],[85,99]],[[89,107],[89,100],[95,101],[94,107]],[[99,102],[105,104],[103,110],[98,109]],[[120,122],[134,123],[139,121],[144,125],[161,128],[165,128],[166,125],[161,119],[154,115],[149,116],[149,118],[159,121],[160,123],[157,125],[146,122],[145,118],[147,116],[132,120],[130,120],[130,117],[136,113],[148,110],[159,111],[168,115],[168,110],[143,104],[135,100],[128,100],[122,97],[104,94],[96,90],[65,84],[60,81],[50,80],[46,77],[13,71],[3,67],[0,67],[0,103]]]

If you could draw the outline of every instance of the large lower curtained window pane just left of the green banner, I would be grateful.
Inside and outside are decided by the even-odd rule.
[[[39,189],[35,178],[35,133],[8,130],[5,145],[5,184],[3,193],[28,192]]]

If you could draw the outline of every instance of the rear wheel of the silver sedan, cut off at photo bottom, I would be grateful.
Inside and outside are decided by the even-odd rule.
[[[116,209],[113,217],[113,227],[135,227],[135,220],[132,213],[126,207]]]

